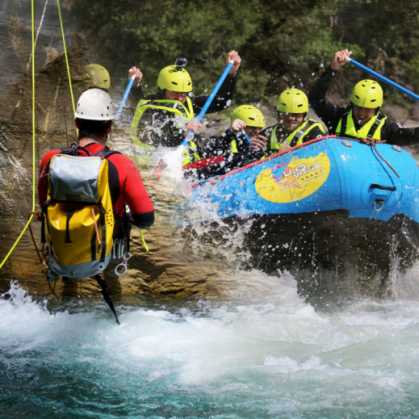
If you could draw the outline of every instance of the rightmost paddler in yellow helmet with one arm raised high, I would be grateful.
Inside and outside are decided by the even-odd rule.
[[[332,64],[325,68],[309,92],[309,103],[328,127],[329,133],[345,138],[385,140],[388,144],[411,145],[419,142],[419,127],[404,128],[391,122],[383,112],[383,89],[374,80],[361,80],[353,87],[351,104],[346,108],[330,103],[326,94],[339,68],[352,51],[335,52]]]

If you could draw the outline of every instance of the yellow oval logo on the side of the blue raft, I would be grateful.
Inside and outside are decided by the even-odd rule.
[[[276,172],[280,175],[275,175]],[[324,153],[308,159],[294,156],[288,164],[260,172],[255,188],[263,199],[271,203],[293,203],[316,192],[328,179],[329,172],[330,160]]]

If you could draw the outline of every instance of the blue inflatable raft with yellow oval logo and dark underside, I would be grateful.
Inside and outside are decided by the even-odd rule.
[[[384,142],[328,137],[192,185],[195,204],[250,225],[250,265],[363,277],[418,258],[419,170]],[[215,205],[214,205],[215,204]]]

